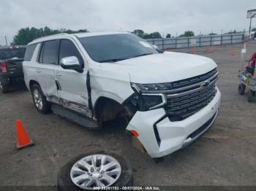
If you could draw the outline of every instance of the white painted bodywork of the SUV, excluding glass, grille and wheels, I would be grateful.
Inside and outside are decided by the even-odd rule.
[[[30,62],[23,62],[25,82],[29,88],[30,80],[39,82],[45,95],[52,94],[59,98],[89,107],[89,95],[86,87],[86,75],[89,71],[91,85],[92,106],[97,104],[100,97],[110,98],[122,104],[134,93],[130,83],[163,83],[175,82],[181,79],[196,77],[206,74],[216,68],[217,65],[210,58],[199,55],[189,55],[177,52],[165,52],[163,54],[146,55],[138,58],[131,58],[116,63],[97,63],[93,61],[86,50],[80,44],[77,37],[126,34],[125,32],[99,32],[72,35],[48,36],[34,40],[33,43],[40,43],[51,39],[70,39],[78,48],[83,57],[85,67],[83,73],[64,70],[61,66],[42,66],[37,63],[37,45]],[[30,44],[31,44],[30,43]],[[37,69],[45,67],[44,79],[37,74]],[[55,67],[55,68],[54,68]],[[61,76],[56,76],[60,73]],[[56,90],[55,79],[61,88]],[[148,112],[136,112],[127,126],[127,130],[136,130],[140,134],[138,139],[145,147],[151,157],[162,157],[181,149],[187,136],[206,123],[219,108],[221,94],[219,90],[215,98],[199,112],[179,122],[170,122],[165,118],[157,123],[157,130],[161,144],[157,144],[153,125],[161,117],[165,116],[164,109],[154,109]]]

